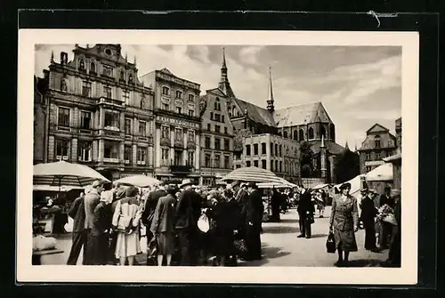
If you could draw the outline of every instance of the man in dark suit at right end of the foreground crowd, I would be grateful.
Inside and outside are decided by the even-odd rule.
[[[249,196],[246,213],[247,261],[261,260],[261,224],[263,222],[263,197],[255,182],[247,185]]]

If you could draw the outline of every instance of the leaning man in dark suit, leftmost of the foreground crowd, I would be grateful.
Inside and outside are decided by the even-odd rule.
[[[91,185],[85,188],[85,193],[82,192],[79,197],[77,197],[71,208],[69,208],[69,217],[71,217],[73,222],[73,232],[72,232],[72,244],[71,251],[69,252],[69,257],[67,265],[76,265],[77,259],[79,257],[82,246],[84,246],[84,262],[85,262],[85,194],[91,191]]]

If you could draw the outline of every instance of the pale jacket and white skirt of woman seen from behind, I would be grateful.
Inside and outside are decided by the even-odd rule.
[[[113,214],[113,226],[117,226],[119,216],[129,216],[133,219],[133,230],[131,233],[119,231],[117,234],[116,257],[128,257],[142,253],[139,239],[139,205],[134,197],[125,197],[117,201],[116,209]]]

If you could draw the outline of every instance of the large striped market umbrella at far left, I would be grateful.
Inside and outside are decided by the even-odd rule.
[[[66,161],[34,165],[33,170],[33,185],[85,187],[96,180],[110,182],[89,166]]]

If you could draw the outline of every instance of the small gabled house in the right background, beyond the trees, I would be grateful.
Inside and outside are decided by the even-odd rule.
[[[366,139],[359,149],[360,173],[368,173],[383,165],[384,157],[396,153],[396,137],[383,125],[373,125],[366,134]]]

